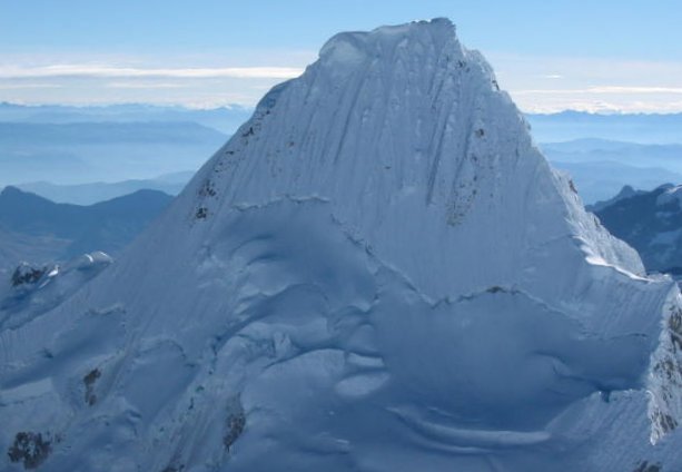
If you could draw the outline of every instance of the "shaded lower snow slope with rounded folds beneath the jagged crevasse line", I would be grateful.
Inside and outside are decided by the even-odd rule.
[[[547,427],[566,407],[641,387],[644,336],[590,336],[501,286],[431,302],[328,207],[284,199],[215,225],[195,268],[174,271],[175,287],[197,286],[200,311],[155,298],[144,308],[155,316],[125,306],[77,314],[47,357],[4,372],[4,403],[42,410],[12,415],[8,440],[70,439],[73,454],[91,458],[82,470],[107,458],[112,470],[251,471],[274,456],[287,470],[491,460],[532,470],[580,456],[582,437]],[[88,455],[111,443],[116,459]],[[406,453],[404,463],[386,459]],[[52,470],[73,468],[76,455],[51,458]]]

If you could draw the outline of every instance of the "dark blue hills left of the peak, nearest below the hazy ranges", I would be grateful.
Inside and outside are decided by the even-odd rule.
[[[171,201],[157,190],[91,206],[56,204],[14,187],[0,193],[0,266],[103,250],[116,255]]]

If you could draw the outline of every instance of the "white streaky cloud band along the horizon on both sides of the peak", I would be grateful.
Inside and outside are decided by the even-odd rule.
[[[313,58],[261,53],[258,66],[215,67],[217,60],[196,65],[170,57],[72,57],[59,62],[0,57],[0,101],[254,106],[275,83],[303,73]],[[525,111],[682,112],[682,62],[495,53],[488,59],[502,87]],[[268,66],[277,61],[280,66]]]

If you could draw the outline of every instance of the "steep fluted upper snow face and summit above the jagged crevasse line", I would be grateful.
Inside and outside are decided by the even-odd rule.
[[[512,281],[537,291],[545,282],[524,265],[548,240],[563,247],[551,252],[555,264],[584,249],[643,273],[584,214],[487,62],[446,20],[333,38],[261,100],[184,198],[190,219],[215,228],[235,207],[312,197],[434,299]],[[442,245],[458,250],[433,250]]]

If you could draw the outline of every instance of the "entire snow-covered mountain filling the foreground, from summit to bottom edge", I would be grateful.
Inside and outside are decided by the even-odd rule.
[[[4,323],[1,469],[682,470],[678,288],[527,128],[447,20],[334,37]]]

